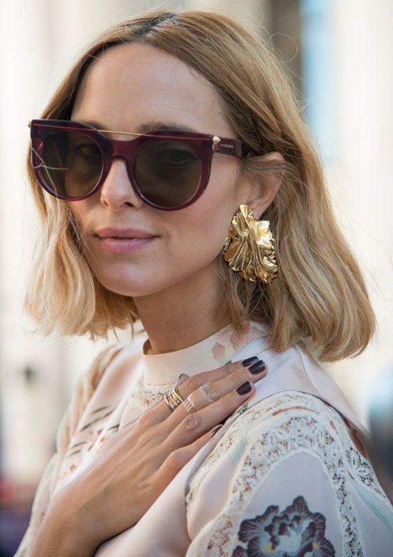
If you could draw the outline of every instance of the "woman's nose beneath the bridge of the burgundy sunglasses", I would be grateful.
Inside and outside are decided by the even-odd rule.
[[[127,167],[123,158],[114,158],[105,182],[100,189],[100,201],[111,209],[119,209],[123,206],[140,208],[143,201],[132,188],[128,177]]]

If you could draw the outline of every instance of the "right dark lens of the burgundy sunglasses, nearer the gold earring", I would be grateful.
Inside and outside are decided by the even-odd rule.
[[[134,163],[139,191],[153,204],[174,208],[190,201],[201,181],[197,153],[176,139],[151,139],[143,144]]]

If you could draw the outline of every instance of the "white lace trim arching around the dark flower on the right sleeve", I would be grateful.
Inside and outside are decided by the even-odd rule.
[[[261,432],[258,438],[257,430]],[[237,465],[240,472],[231,485],[229,503],[215,519],[213,531],[205,528],[192,542],[191,554],[227,555],[229,547],[233,549],[236,545],[245,509],[263,479],[288,456],[309,452],[321,462],[337,497],[343,531],[342,554],[363,556],[357,517],[350,489],[346,487],[347,476],[362,484],[380,504],[387,508],[391,505],[369,462],[357,451],[344,427],[343,418],[336,410],[321,399],[302,392],[278,393],[247,409],[232,422],[190,478],[185,498],[187,513],[192,509],[201,482],[222,455],[228,452],[234,455],[236,447],[242,457]],[[255,462],[259,466],[256,467]]]

